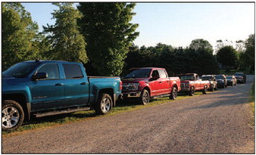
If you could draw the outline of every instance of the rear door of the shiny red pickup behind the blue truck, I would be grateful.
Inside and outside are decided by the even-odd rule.
[[[165,70],[158,70],[161,83],[161,95],[170,94],[170,79]]]

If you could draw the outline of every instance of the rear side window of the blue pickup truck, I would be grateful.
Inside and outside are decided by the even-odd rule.
[[[78,64],[62,64],[64,67],[64,73],[66,79],[76,79],[83,78],[83,73],[81,71],[80,65]]]

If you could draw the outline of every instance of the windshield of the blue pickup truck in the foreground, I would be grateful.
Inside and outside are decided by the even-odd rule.
[[[2,76],[25,77],[37,65],[38,63],[34,63],[34,62],[14,64],[14,66],[8,68],[8,70],[5,70],[5,72],[2,73]]]

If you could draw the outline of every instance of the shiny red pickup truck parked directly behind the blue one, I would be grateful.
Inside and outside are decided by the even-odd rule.
[[[169,96],[176,99],[180,91],[180,78],[168,77],[164,68],[133,68],[121,80],[123,98],[136,98],[144,105],[150,98]]]

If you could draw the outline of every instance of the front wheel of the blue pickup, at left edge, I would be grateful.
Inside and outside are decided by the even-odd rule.
[[[11,132],[19,128],[24,120],[23,108],[16,101],[5,100],[2,104],[2,131]]]

